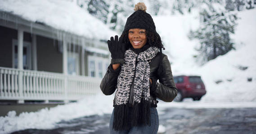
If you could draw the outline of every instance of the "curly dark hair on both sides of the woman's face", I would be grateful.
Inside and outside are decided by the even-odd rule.
[[[128,35],[129,35],[129,31],[127,30],[126,32],[124,32],[121,36],[124,37],[124,40],[123,42],[125,44],[128,44],[128,48],[132,47],[131,44],[130,44],[130,41],[129,41],[129,38],[128,38]],[[146,30],[146,36],[147,36],[147,42],[150,46],[156,46],[157,48],[163,48],[163,50],[165,50],[165,48],[163,47],[163,44],[162,44],[162,40],[161,38],[159,37],[159,35],[151,32],[151,31],[148,31]]]

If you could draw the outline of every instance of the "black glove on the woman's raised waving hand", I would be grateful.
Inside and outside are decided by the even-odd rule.
[[[123,43],[123,37],[120,37],[118,40],[118,36],[115,36],[115,40],[113,37],[108,40],[108,50],[111,53],[111,64],[123,63],[126,45]]]

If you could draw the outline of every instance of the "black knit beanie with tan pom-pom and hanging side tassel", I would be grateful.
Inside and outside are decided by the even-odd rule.
[[[161,40],[161,37],[156,31],[156,26],[153,21],[153,18],[150,14],[146,13],[147,7],[143,2],[139,2],[135,4],[134,8],[135,12],[130,15],[130,17],[127,18],[125,28],[122,32],[122,35],[129,29],[146,29],[148,31],[153,32],[157,38]],[[162,59],[162,48],[165,50],[165,48],[162,46],[160,48],[160,58]],[[158,71],[160,74],[165,73],[165,69],[162,67],[162,60],[160,60]]]

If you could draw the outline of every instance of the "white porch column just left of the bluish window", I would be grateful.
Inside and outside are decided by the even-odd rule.
[[[68,98],[67,98],[67,41],[64,39],[63,40],[63,74],[65,76],[64,79],[64,94],[65,94],[65,100],[64,102],[67,103],[68,102]]]

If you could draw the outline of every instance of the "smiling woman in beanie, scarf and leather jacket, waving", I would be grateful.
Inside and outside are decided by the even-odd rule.
[[[105,95],[116,91],[111,134],[157,134],[156,98],[171,102],[177,95],[171,65],[162,48],[146,6],[136,4],[121,37],[108,40],[112,59],[100,88]]]

